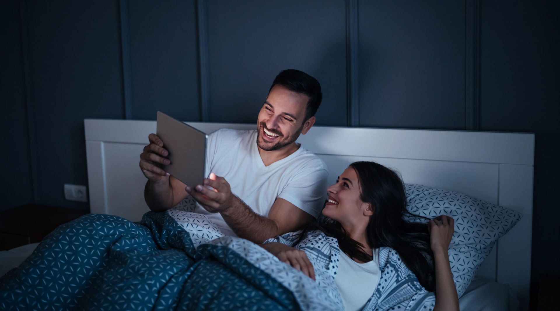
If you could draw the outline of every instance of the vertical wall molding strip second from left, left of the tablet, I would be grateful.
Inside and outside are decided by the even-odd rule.
[[[128,0],[119,0],[120,56],[123,78],[123,117],[132,119],[132,82],[130,78],[130,27]]]

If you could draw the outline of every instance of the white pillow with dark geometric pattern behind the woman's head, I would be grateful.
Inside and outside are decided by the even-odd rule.
[[[455,219],[449,261],[459,296],[473,280],[494,243],[522,216],[515,210],[450,190],[405,184],[405,192],[411,213],[430,219],[445,214]]]

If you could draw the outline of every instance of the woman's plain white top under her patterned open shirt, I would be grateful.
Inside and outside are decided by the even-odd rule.
[[[367,300],[374,294],[380,276],[377,250],[374,250],[374,259],[363,264],[358,264],[341,251],[334,283],[337,284],[342,296],[344,310],[362,310]]]

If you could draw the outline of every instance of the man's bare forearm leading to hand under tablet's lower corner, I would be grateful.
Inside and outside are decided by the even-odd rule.
[[[220,214],[237,236],[257,244],[281,233],[276,222],[256,214],[237,197],[231,207]]]

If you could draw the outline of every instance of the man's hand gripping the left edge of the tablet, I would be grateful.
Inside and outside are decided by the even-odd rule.
[[[164,142],[155,134],[148,136],[150,145],[144,147],[140,154],[140,169],[146,178],[153,183],[168,183],[169,173],[160,168],[160,164],[169,165],[171,161],[165,157],[169,152],[164,149]]]

